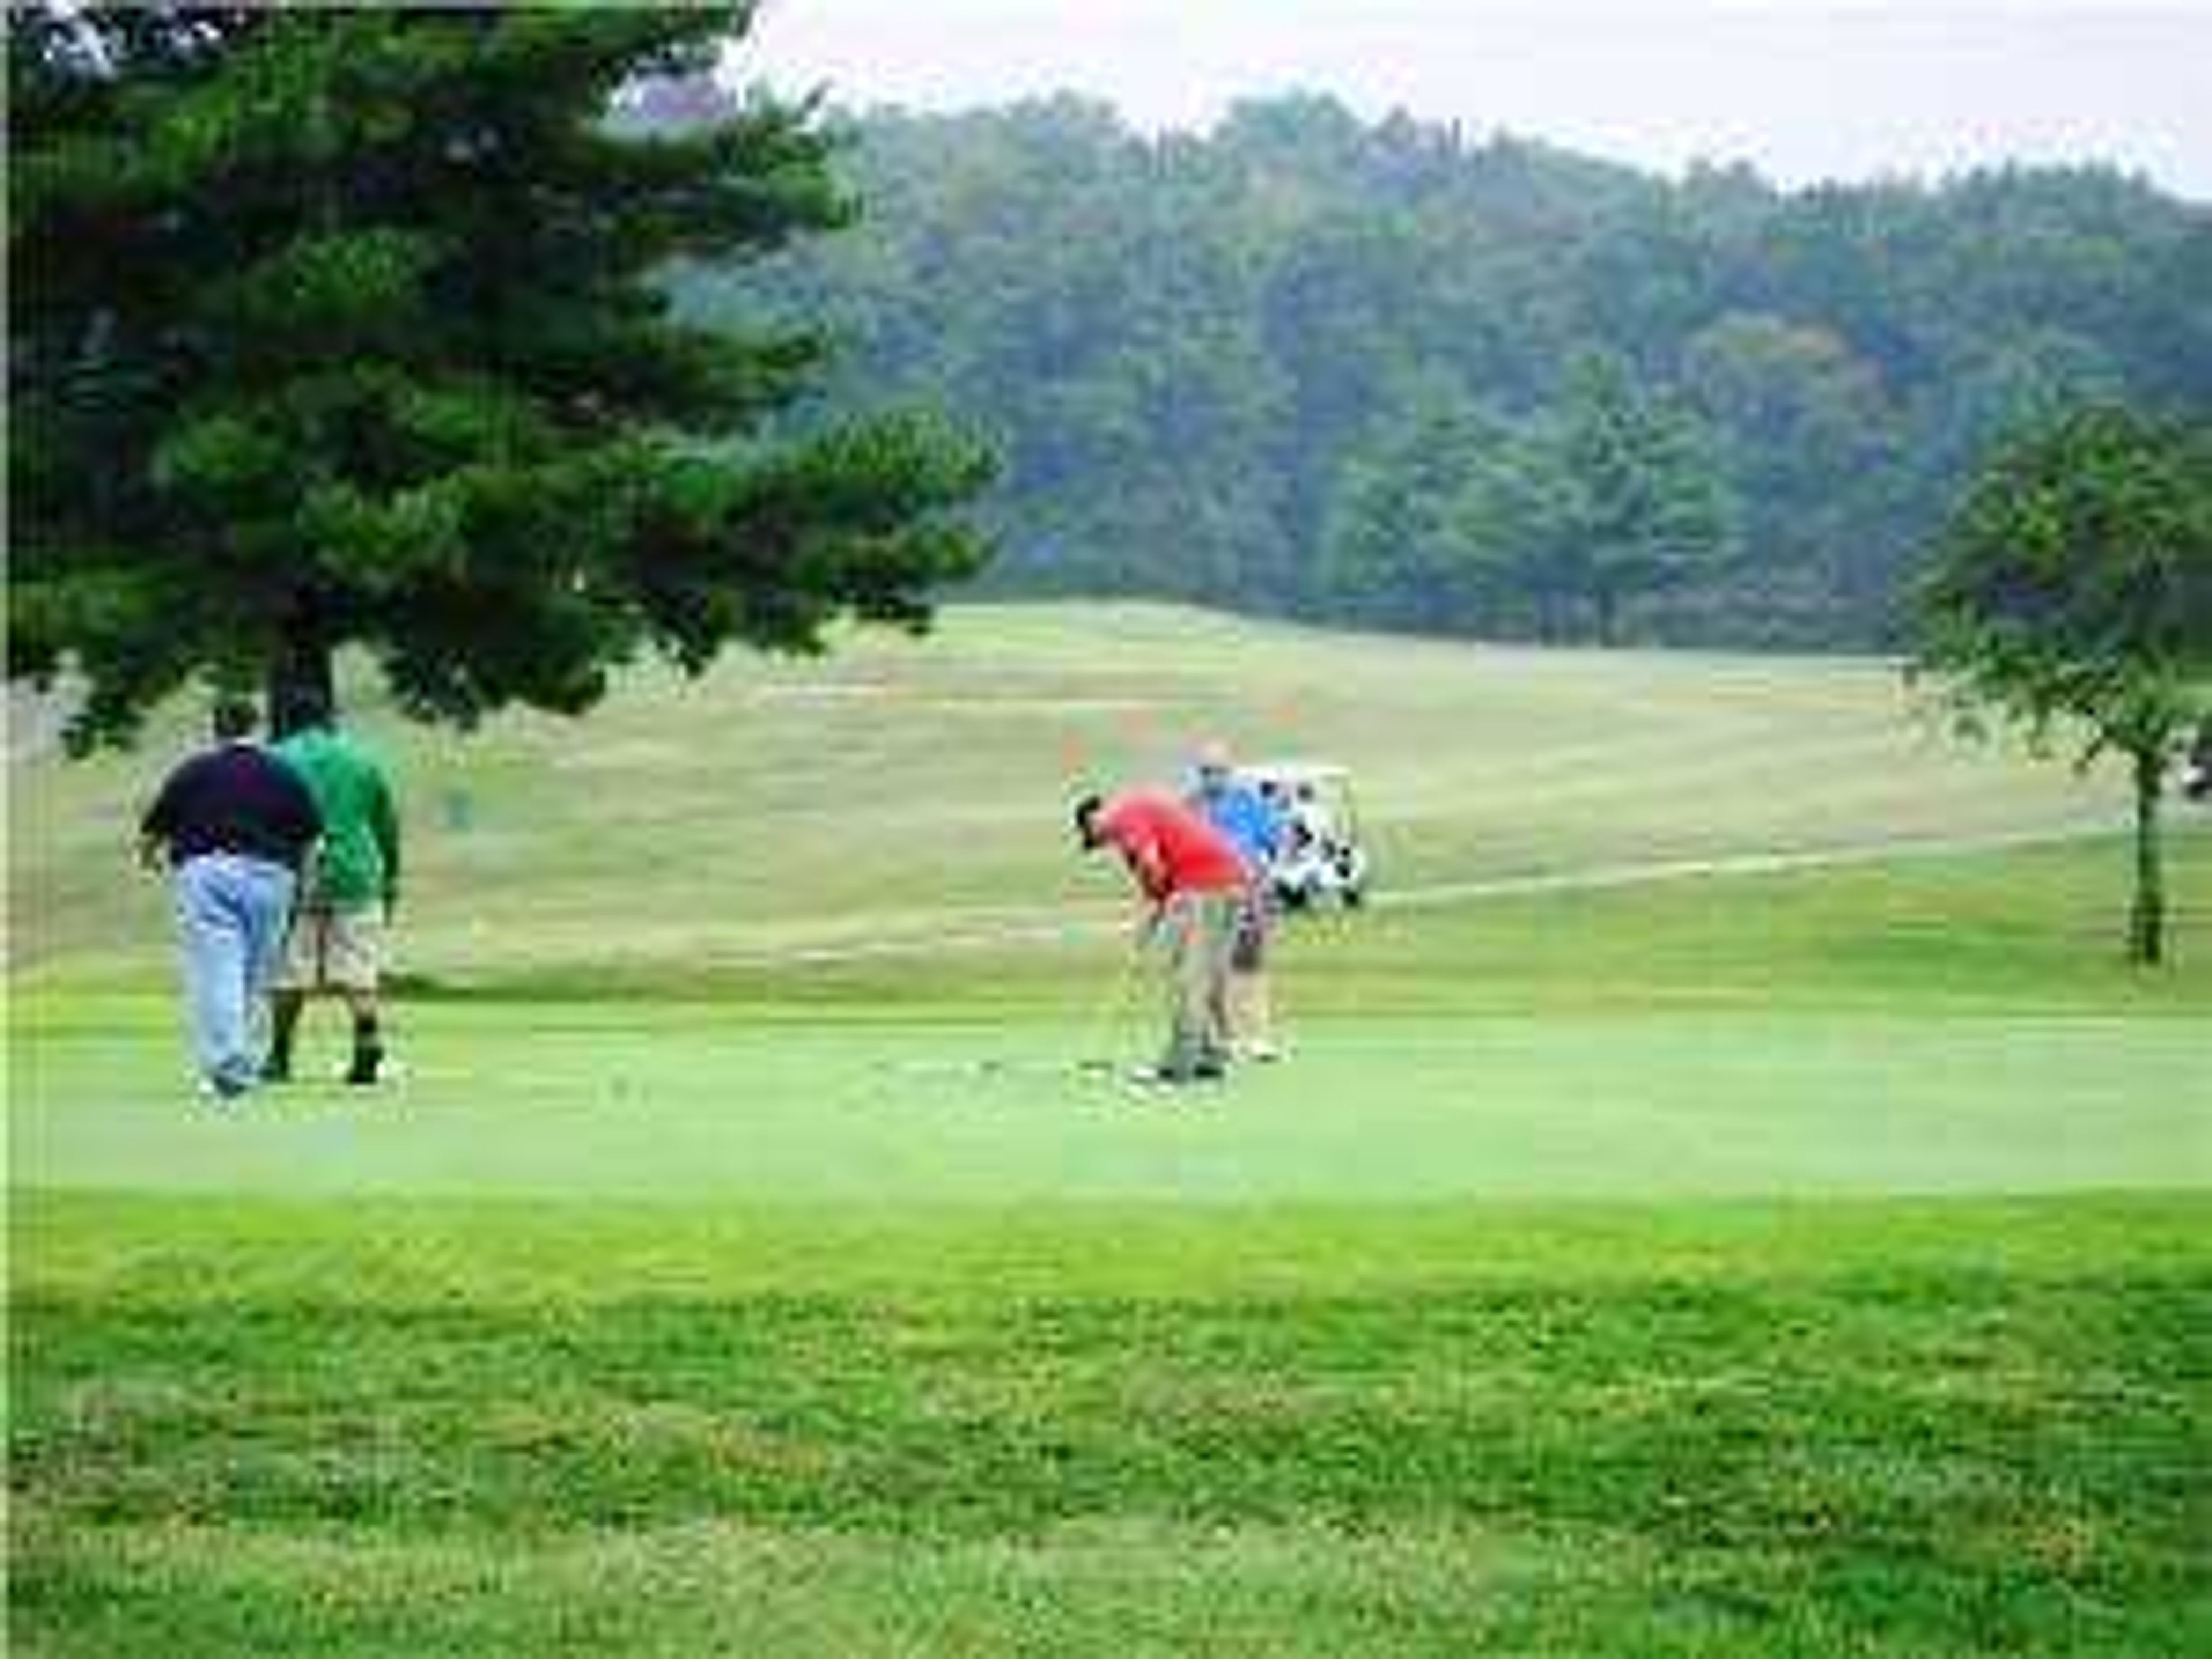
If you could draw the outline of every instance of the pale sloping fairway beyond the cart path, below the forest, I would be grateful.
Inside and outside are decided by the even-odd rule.
[[[137,754],[11,763],[18,967],[164,967],[164,896],[128,843],[190,726],[173,710]],[[405,962],[447,980],[1106,916],[1119,883],[1071,856],[1068,799],[1172,781],[1201,737],[1352,763],[1400,894],[2124,821],[2117,779],[1951,741],[1885,661],[1458,646],[1135,604],[960,606],[925,641],[854,635],[699,681],[639,670],[584,721],[467,737],[365,690],[356,726],[405,794]]]

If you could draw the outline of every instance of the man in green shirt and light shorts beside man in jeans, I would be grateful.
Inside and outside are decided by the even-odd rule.
[[[301,883],[299,909],[285,940],[285,962],[272,993],[272,1033],[265,1075],[292,1075],[292,1033],[312,991],[336,991],[354,1015],[349,1084],[374,1084],[385,1060],[376,987],[385,958],[385,925],[400,887],[400,823],[383,768],[354,739],[336,730],[330,703],[314,692],[294,695],[290,737],[276,759],[299,772],[323,814]]]

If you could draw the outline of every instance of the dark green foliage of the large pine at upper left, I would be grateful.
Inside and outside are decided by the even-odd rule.
[[[82,675],[77,745],[347,644],[471,721],[927,622],[987,462],[801,431],[821,338],[670,314],[681,261],[852,217],[810,106],[613,119],[745,15],[9,11],[9,672]]]

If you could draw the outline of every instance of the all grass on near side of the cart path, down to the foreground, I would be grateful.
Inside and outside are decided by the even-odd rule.
[[[2099,867],[1314,929],[1298,1060],[1197,1110],[942,1066],[1064,1053],[1079,949],[418,1004],[403,1088],[223,1121],[155,1000],[33,995],[15,1635],[2190,1650],[2205,978],[2006,953]],[[1982,883],[2004,971],[1898,989]]]

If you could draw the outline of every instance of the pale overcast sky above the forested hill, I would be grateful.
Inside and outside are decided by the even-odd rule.
[[[2212,0],[761,0],[737,73],[845,106],[1073,88],[1146,128],[1301,86],[1663,173],[2115,161],[2212,201]]]

